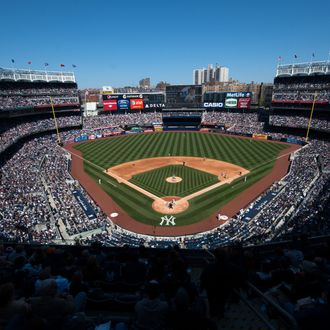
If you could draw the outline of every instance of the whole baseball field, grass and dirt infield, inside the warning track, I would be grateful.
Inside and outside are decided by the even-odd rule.
[[[81,152],[85,173],[131,218],[164,226],[163,217],[175,214],[169,225],[185,226],[260,181],[286,148],[220,134],[167,132],[87,141],[71,152]]]

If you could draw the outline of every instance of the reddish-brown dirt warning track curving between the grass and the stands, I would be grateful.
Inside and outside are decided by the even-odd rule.
[[[155,133],[158,134],[158,133]],[[202,134],[202,133],[201,133]],[[209,134],[209,133],[203,133]],[[237,139],[248,139],[241,136],[230,136]],[[270,141],[269,143],[273,143]],[[197,223],[192,223],[185,226],[171,226],[161,227],[152,224],[145,224],[133,219],[128,213],[122,209],[114,200],[101,188],[101,186],[94,181],[84,170],[84,161],[82,153],[79,150],[74,149],[74,146],[80,143],[68,143],[65,149],[72,155],[72,175],[75,179],[79,180],[80,184],[88,192],[88,194],[97,202],[102,210],[110,216],[112,212],[117,212],[118,217],[112,218],[114,224],[119,225],[127,230],[143,233],[153,236],[180,236],[189,235],[204,232],[217,228],[224,221],[217,220],[217,214],[225,214],[229,218],[234,216],[240,209],[246,207],[251,201],[257,198],[261,193],[268,189],[274,181],[280,180],[285,174],[287,174],[290,164],[290,153],[300,149],[298,145],[290,145],[283,142],[276,142],[288,145],[288,148],[282,150],[275,162],[275,165],[270,173],[263,177],[260,181],[253,184],[248,189],[233,198],[225,206],[219,208],[216,212],[205,217]]]

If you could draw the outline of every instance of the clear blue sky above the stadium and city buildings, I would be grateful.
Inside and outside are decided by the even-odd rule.
[[[77,65],[78,85],[191,83],[208,63],[241,82],[271,82],[283,63],[327,60],[330,1],[5,1],[0,67]]]

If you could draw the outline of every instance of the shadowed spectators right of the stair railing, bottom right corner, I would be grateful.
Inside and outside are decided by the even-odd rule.
[[[311,244],[305,236],[298,238],[288,247],[274,247],[263,255],[248,251],[247,259],[253,260],[256,266],[248,279],[292,317],[295,328],[327,329],[330,322],[329,242]],[[272,305],[263,305],[263,310],[276,318]]]

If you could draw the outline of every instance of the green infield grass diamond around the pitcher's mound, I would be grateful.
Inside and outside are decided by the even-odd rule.
[[[182,181],[166,182],[166,178],[173,175],[182,178]],[[129,181],[158,197],[184,197],[219,182],[216,175],[182,165],[169,165],[137,174]]]

